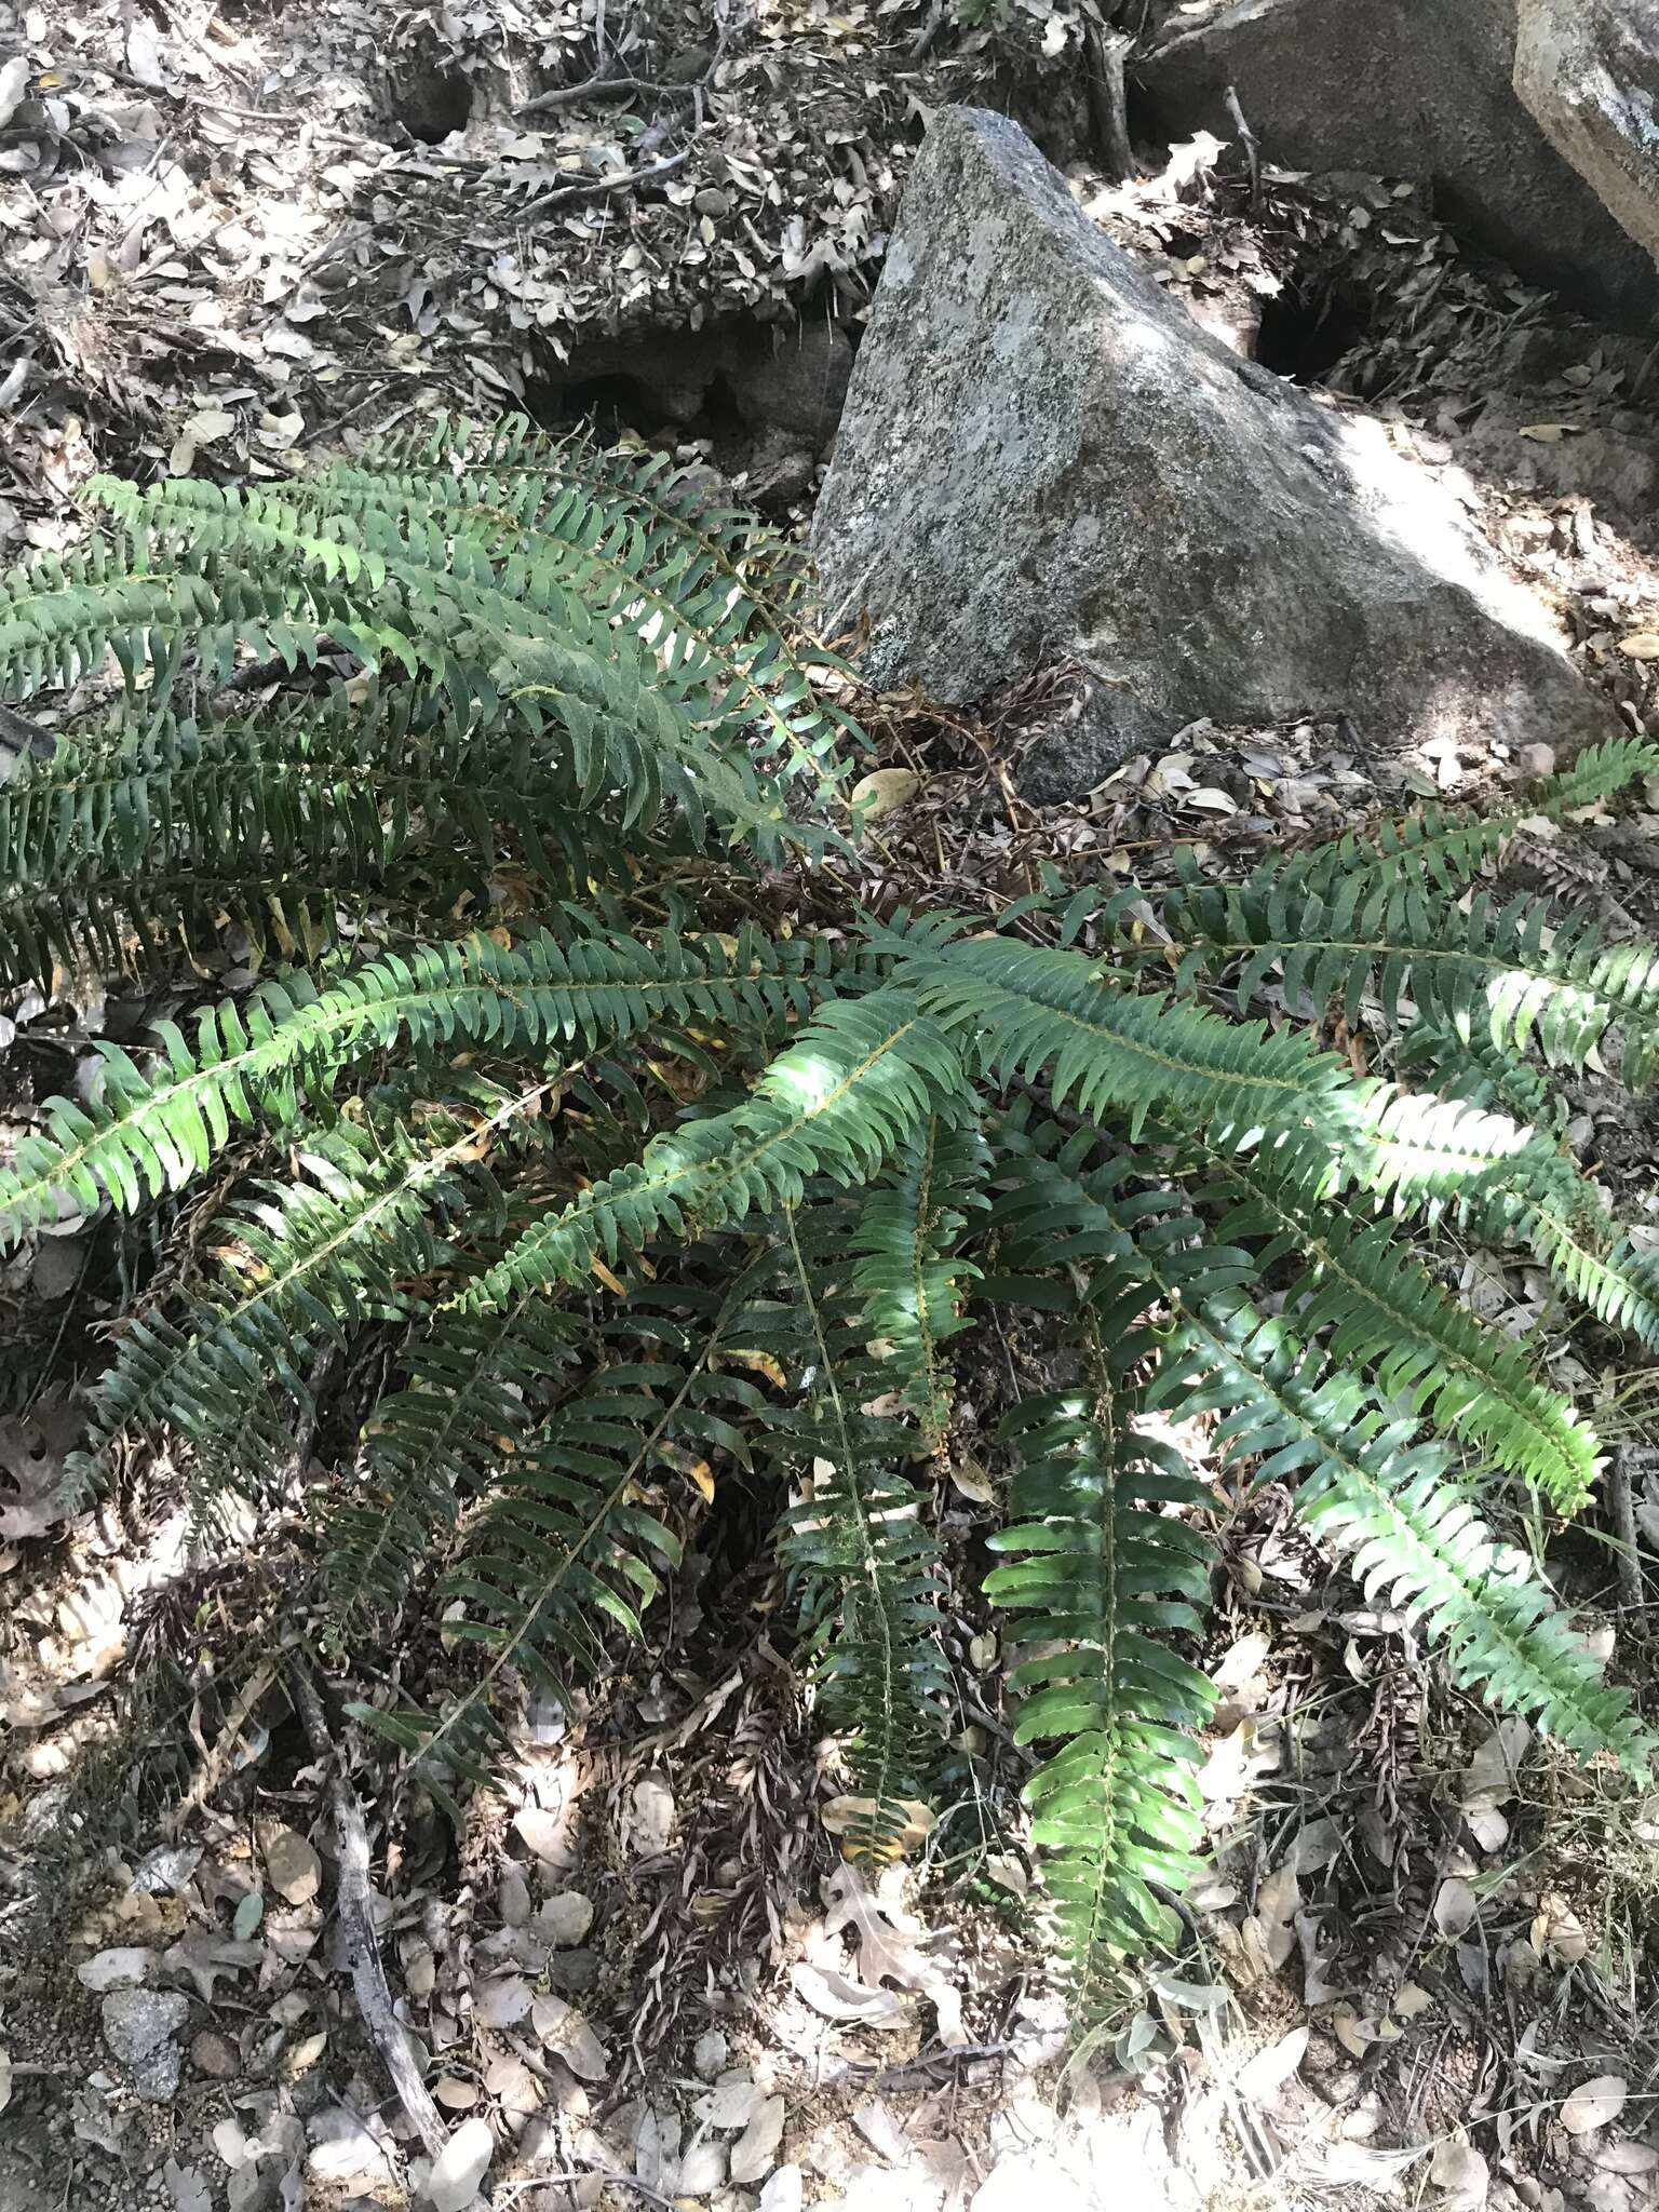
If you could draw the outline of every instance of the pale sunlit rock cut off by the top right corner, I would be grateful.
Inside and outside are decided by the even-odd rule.
[[[1659,252],[1659,0],[1520,0],[1515,93],[1630,237]]]

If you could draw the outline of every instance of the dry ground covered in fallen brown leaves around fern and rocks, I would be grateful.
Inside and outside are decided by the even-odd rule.
[[[0,9],[0,64],[29,62],[0,126],[0,535],[13,553],[66,542],[97,465],[281,476],[438,400],[535,405],[584,345],[668,312],[812,301],[856,319],[918,111],[998,66],[956,35],[911,58],[929,20],[761,9],[721,44],[712,18],[606,22],[575,0],[533,20],[511,0]],[[595,66],[666,91],[524,115]],[[1077,190],[1206,321],[1334,405],[1380,407],[1425,469],[1453,473],[1586,675],[1646,728],[1659,436],[1641,352],[1473,268],[1391,186],[1279,177],[1250,215],[1212,148],[1177,168],[1117,195],[1079,173]],[[531,219],[549,192],[571,197]],[[670,431],[686,451],[706,434],[695,414]],[[796,513],[805,498],[810,482]],[[1385,770],[1343,728],[1194,728],[1082,805],[1035,810],[1020,752],[1068,697],[1060,668],[973,719],[854,701],[880,761],[916,779],[872,834],[860,891],[880,905],[927,878],[995,902],[1042,863],[1155,876],[1177,841],[1234,869],[1520,765]],[[1513,865],[1655,927],[1655,858],[1659,792]],[[102,1020],[7,1011],[13,1126]],[[1655,1214],[1648,1133],[1593,1091],[1582,1113],[1626,1210]],[[73,1267],[49,1243],[0,1276],[20,1345],[84,1349],[55,1343]],[[1531,1270],[1471,1254],[1464,1292],[1544,1329],[1608,1436],[1659,1444],[1657,1378],[1568,1334]],[[204,1568],[168,1467],[69,1515],[53,1475],[73,1416],[18,1387],[4,1402],[24,1413],[0,1422],[0,2208],[407,2201],[420,2146],[363,2035],[332,1765],[290,1710],[279,1644],[323,1686],[374,1840],[392,1997],[440,2106],[487,2121],[498,2205],[1657,2201],[1659,1803],[1493,1732],[1272,1491],[1219,1502],[1214,1871],[1188,1951],[1062,2070],[975,1597],[995,1378],[1026,1356],[991,1343],[964,1363],[993,1380],[942,1498],[960,1794],[920,1865],[876,1887],[825,1836],[834,1763],[748,1502],[692,1528],[650,1652],[571,1710],[526,1712],[500,1801],[476,1801],[456,1836],[338,1719],[392,1668],[442,1677],[438,1626],[396,1659],[336,1655],[307,1613],[299,1520],[261,1531],[257,1568]],[[1659,1495],[1639,1506],[1659,1524]],[[1646,1672],[1648,1586],[1632,1608],[1593,1531],[1559,1564],[1613,1666]]]

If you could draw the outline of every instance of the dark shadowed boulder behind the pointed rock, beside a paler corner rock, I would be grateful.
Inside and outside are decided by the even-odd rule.
[[[1181,133],[1234,137],[1232,84],[1270,161],[1418,177],[1447,221],[1586,312],[1639,325],[1659,305],[1648,257],[1515,97],[1515,0],[1232,0],[1194,27],[1175,13],[1137,73]]]

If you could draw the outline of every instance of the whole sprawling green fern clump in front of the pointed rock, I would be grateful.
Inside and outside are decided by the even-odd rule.
[[[845,849],[858,734],[790,644],[776,549],[661,465],[440,427],[281,491],[93,495],[91,549],[4,586],[7,699],[97,688],[111,653],[122,684],[0,792],[0,978],[177,973],[234,925],[261,980],[106,1046],[0,1175],[0,1225],[161,1225],[91,1391],[93,1484],[148,1436],[204,1511],[268,1493],[376,1349],[312,1504],[343,1635],[418,1586],[476,1646],[453,1703],[365,1712],[434,1790],[489,1774],[526,1681],[641,1630],[699,1493],[741,1478],[805,1593],[847,1845],[891,1849],[953,1732],[933,1464],[995,1307],[1053,1340],[989,1595],[1079,2017],[1175,1936],[1201,1832],[1212,1692],[1181,1650],[1212,1506],[1168,1416],[1290,1484],[1471,1692],[1646,1767],[1486,1524],[1582,1511],[1597,1440],[1433,1250],[1528,1250],[1659,1347],[1659,1274],[1548,1088],[1590,1055],[1650,1082],[1659,967],[1464,900],[1513,823],[1033,896],[991,931],[770,931],[768,883]],[[1655,770],[1610,743],[1528,812]],[[1394,1077],[1263,1020],[1270,980],[1380,1020]]]

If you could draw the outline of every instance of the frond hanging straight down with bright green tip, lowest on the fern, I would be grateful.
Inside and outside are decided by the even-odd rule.
[[[1040,1646],[1011,1677],[1026,1692],[1015,1741],[1064,1739],[1024,1796],[1079,2026],[1106,2011],[1126,1958],[1179,1938],[1164,1891],[1194,1871],[1197,1730],[1217,1694],[1164,1644],[1201,1628],[1212,1546],[1170,1509],[1203,1506],[1208,1493],[1139,1427],[1133,1371],[1157,1349],[1139,1327],[1146,1287],[1102,1292],[1086,1360],[1093,1389],[1026,1400],[1004,1425],[1020,1453],[1013,1526],[991,1546],[1011,1564],[984,1584],[995,1604],[1026,1615]]]

